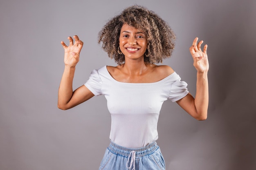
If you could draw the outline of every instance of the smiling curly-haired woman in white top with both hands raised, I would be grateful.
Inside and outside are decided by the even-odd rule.
[[[99,170],[165,169],[156,144],[157,121],[162,103],[170,99],[198,120],[207,118],[209,69],[207,45],[201,50],[195,38],[190,47],[197,70],[195,98],[169,66],[155,65],[170,57],[175,34],[157,14],[139,6],[125,9],[99,32],[99,43],[117,66],[93,70],[75,91],[72,81],[83,42],[68,38],[65,69],[58,91],[58,108],[66,110],[94,95],[105,95],[111,113],[110,146]]]

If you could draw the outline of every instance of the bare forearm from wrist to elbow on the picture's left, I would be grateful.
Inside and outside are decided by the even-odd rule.
[[[73,95],[73,79],[75,67],[65,66],[61,83],[58,89],[58,107],[67,104]]]

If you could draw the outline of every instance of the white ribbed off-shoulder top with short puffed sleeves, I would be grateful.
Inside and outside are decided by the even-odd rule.
[[[94,95],[105,95],[111,114],[110,140],[128,148],[156,141],[163,102],[176,102],[189,93],[175,72],[154,83],[124,83],[115,80],[106,66],[93,70],[85,86]]]

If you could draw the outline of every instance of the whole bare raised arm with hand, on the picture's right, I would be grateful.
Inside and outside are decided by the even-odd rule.
[[[208,77],[207,73],[209,70],[209,63],[207,57],[207,45],[204,46],[203,51],[201,50],[200,41],[197,44],[198,38],[195,38],[192,46],[190,47],[190,53],[194,60],[194,66],[197,70],[197,81],[196,81],[196,94],[195,98],[189,93],[186,97],[177,101],[186,112],[192,117],[198,120],[207,119],[207,110],[209,103],[209,92],[208,92]]]

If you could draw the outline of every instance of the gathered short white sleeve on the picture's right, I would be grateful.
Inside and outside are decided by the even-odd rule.
[[[189,93],[188,89],[186,88],[188,84],[180,80],[180,76],[176,74],[175,81],[171,84],[171,89],[168,98],[172,102],[177,102]]]

